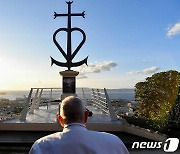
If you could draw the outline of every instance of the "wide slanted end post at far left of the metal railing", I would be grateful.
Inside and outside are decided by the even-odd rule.
[[[24,104],[24,108],[21,111],[21,116],[20,116],[20,121],[26,121],[26,116],[27,116],[27,112],[28,112],[28,108],[29,108],[29,104],[31,102],[31,96],[32,96],[32,92],[33,92],[33,88],[31,88],[28,98],[26,100],[26,103]]]

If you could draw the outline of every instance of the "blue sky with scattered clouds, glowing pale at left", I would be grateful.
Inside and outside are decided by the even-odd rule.
[[[65,62],[52,41],[67,18],[64,0],[0,0],[0,90],[62,87],[60,71],[50,56]],[[72,27],[86,33],[86,42],[74,62],[82,65],[77,87],[134,88],[154,73],[180,71],[179,0],[74,0]],[[73,49],[82,36],[72,34]],[[66,50],[66,33],[57,35]]]

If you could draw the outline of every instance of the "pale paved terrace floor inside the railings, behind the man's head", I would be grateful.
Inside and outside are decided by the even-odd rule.
[[[93,116],[88,118],[88,123],[112,123],[109,113],[104,113],[93,105],[87,105],[86,108],[93,112]],[[48,109],[47,106],[40,106],[39,109],[34,109],[34,113],[28,113],[24,122],[14,119],[4,123],[56,123],[58,110],[58,104],[49,105]],[[122,121],[117,120],[115,123],[122,124]]]

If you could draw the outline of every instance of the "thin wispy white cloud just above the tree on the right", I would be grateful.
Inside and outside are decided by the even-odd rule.
[[[151,67],[151,68],[147,68],[147,69],[144,69],[144,70],[142,70],[142,71],[131,71],[131,72],[127,72],[127,74],[129,74],[129,75],[153,74],[153,73],[156,73],[159,69],[160,69],[160,67],[153,66],[153,67]]]

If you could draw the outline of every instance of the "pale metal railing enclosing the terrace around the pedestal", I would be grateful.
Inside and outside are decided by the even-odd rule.
[[[76,93],[85,105],[87,105],[87,103],[92,103],[103,112],[110,114],[111,120],[117,120],[105,88],[77,88]],[[61,101],[61,94],[62,88],[31,88],[19,119],[21,121],[26,121],[27,113],[34,114],[34,110],[39,109],[40,106],[47,106],[48,110],[51,104],[59,104]]]

